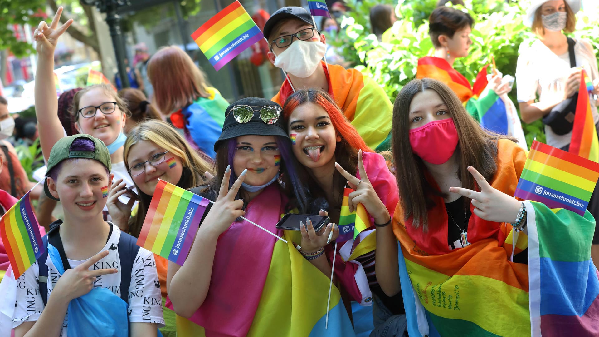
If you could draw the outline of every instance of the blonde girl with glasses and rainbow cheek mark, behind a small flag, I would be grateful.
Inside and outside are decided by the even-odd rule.
[[[114,179],[108,192],[107,207],[112,221],[123,231],[138,237],[143,226],[150,201],[154,195],[158,179],[173,183],[181,188],[204,185],[206,173],[213,173],[208,158],[201,157],[189,143],[167,122],[150,119],[135,125],[129,130],[124,145],[125,167],[135,184],[137,208],[120,201],[122,195],[132,195],[122,179]],[[167,297],[168,261],[154,255],[163,302]],[[176,334],[175,314],[163,306],[165,327],[164,336]]]

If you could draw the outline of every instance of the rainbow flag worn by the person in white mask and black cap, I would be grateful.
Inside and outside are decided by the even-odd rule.
[[[329,64],[327,73],[325,62],[322,62],[322,67],[328,77],[329,95],[358,130],[366,145],[379,152],[389,150],[393,105],[383,88],[358,70]],[[293,93],[286,80],[272,100],[283,106]]]

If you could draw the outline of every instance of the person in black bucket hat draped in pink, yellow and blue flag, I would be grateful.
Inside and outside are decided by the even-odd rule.
[[[310,207],[281,110],[279,104],[256,97],[238,100],[226,110],[214,145],[216,176],[208,188],[191,189],[216,202],[202,219],[183,266],[168,266],[174,311],[189,318],[177,320],[179,337],[326,333],[333,257],[333,243],[327,239],[332,231],[334,240],[338,228],[328,224],[315,233],[310,222],[298,224],[300,231],[276,228],[284,213],[294,208],[308,213]],[[339,256],[335,270],[341,267],[337,264]],[[351,337],[352,324],[340,297],[332,287],[328,329]]]

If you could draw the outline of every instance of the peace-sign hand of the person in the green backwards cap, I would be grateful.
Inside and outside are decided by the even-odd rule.
[[[99,252],[77,267],[65,270],[52,291],[53,295],[58,293],[59,296],[52,297],[70,302],[72,299],[89,293],[93,289],[93,282],[96,281],[96,277],[119,272],[118,269],[114,268],[89,270],[89,267],[107,255],[108,251]]]

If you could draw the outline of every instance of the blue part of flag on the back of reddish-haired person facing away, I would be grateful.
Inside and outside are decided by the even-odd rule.
[[[207,110],[199,103],[190,104],[181,109],[181,113],[185,118],[186,134],[191,137],[196,148],[208,157],[216,158],[214,143],[219,139],[223,125],[211,118]],[[222,115],[225,116],[225,110]]]

